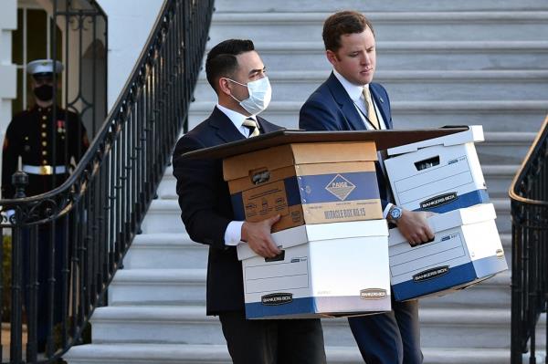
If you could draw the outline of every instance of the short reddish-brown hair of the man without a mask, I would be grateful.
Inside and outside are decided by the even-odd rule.
[[[341,36],[362,33],[369,27],[374,35],[373,24],[362,14],[345,10],[329,16],[323,23],[323,45],[325,49],[336,52],[341,47]]]

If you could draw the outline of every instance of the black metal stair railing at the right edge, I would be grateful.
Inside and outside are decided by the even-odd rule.
[[[548,304],[548,117],[511,182],[509,195],[511,364],[521,364],[527,352],[534,363],[537,322]]]

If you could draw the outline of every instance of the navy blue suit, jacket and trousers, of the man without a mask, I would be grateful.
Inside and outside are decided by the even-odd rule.
[[[390,100],[385,88],[376,83],[369,85],[387,129],[392,129]],[[352,99],[332,74],[300,109],[299,126],[304,130],[365,130],[364,121]],[[385,177],[377,167],[381,204],[386,191]],[[360,352],[366,362],[422,363],[420,330],[416,301],[392,302],[394,312],[382,315],[349,318]]]

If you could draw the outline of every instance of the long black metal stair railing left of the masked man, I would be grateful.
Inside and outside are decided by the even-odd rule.
[[[0,296],[8,286],[11,292],[9,362],[56,362],[106,303],[187,128],[212,12],[213,0],[165,0],[131,77],[68,180],[50,192],[0,201],[2,212],[15,211],[0,224],[12,235],[11,281],[0,280]],[[16,187],[24,196],[24,184]],[[0,261],[2,255],[0,249]],[[39,283],[42,269],[47,279]],[[0,307],[0,316],[5,311]]]

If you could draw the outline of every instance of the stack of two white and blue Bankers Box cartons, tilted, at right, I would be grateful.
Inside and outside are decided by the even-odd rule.
[[[389,149],[385,161],[395,203],[428,218],[435,239],[412,247],[390,231],[390,279],[396,300],[442,295],[508,269],[495,209],[479,166],[481,126]]]

